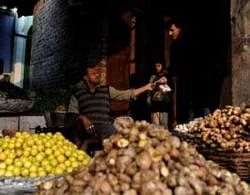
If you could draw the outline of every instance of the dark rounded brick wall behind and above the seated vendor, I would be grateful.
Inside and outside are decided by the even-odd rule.
[[[38,1],[35,6],[30,75],[34,88],[76,82],[81,67],[97,63],[105,53],[105,17],[67,2]]]

